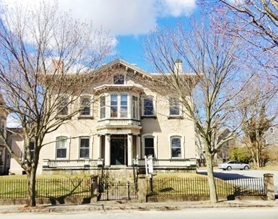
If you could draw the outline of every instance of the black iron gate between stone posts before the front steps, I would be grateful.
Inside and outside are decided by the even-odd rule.
[[[137,190],[130,182],[102,182],[98,184],[98,201],[136,200]]]

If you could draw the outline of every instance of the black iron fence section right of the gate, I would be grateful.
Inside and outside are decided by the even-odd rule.
[[[217,179],[218,196],[264,196],[263,178]],[[209,196],[207,178],[153,178],[147,180],[148,196]]]

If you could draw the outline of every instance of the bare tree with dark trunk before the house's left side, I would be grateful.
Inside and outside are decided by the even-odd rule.
[[[94,101],[80,108],[79,96],[93,93],[92,84],[105,77],[96,76],[94,69],[111,48],[107,33],[56,8],[47,2],[12,10],[1,5],[0,88],[6,105],[0,110],[19,121],[26,158],[14,153],[3,131],[0,137],[27,174],[30,206],[36,205],[36,171],[45,135]]]

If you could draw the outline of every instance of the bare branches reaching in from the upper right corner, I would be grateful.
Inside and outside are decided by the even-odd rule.
[[[265,74],[277,79],[277,0],[219,0],[206,5],[213,10],[210,16],[220,32],[243,39],[242,45],[246,48],[244,58],[250,66],[254,66],[256,61],[267,68]]]

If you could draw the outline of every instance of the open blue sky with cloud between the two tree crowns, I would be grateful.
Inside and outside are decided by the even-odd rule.
[[[42,0],[3,0],[32,6]],[[73,18],[93,21],[96,29],[109,31],[114,39],[113,56],[136,63],[152,72],[146,63],[142,38],[155,27],[174,26],[197,12],[196,0],[45,0],[57,2],[61,11],[71,11]]]

